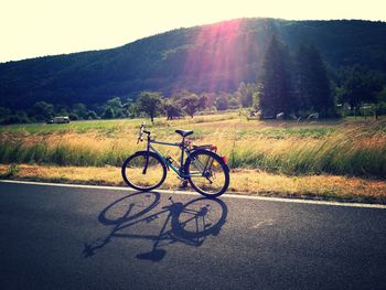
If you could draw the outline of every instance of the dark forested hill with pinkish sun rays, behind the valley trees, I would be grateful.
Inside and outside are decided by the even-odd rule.
[[[26,108],[37,100],[92,105],[144,89],[232,92],[240,82],[257,82],[274,34],[292,51],[314,44],[334,68],[361,64],[386,72],[385,22],[239,19],[111,50],[2,63],[0,106]]]

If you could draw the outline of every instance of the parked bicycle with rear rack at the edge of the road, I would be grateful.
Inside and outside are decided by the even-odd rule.
[[[138,191],[154,190],[164,182],[167,172],[172,169],[183,182],[206,197],[217,197],[229,186],[229,168],[226,158],[216,153],[217,148],[212,144],[194,146],[185,138],[192,130],[175,130],[182,137],[181,142],[164,142],[151,139],[151,132],[142,123],[137,143],[143,141],[147,135],[147,148],[128,157],[122,164],[124,181]],[[179,147],[181,150],[180,164],[175,164],[171,157],[163,155],[152,144]]]

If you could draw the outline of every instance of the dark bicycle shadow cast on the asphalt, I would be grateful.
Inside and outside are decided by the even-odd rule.
[[[143,239],[151,240],[152,248],[136,257],[160,261],[168,245],[182,243],[200,247],[206,237],[218,235],[226,223],[227,206],[221,200],[199,197],[181,203],[170,196],[165,206],[161,206],[160,200],[158,192],[136,192],[106,206],[98,221],[112,228],[105,238],[85,244],[83,255],[94,256],[112,238]]]

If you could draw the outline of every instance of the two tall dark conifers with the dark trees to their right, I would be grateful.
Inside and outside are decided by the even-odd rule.
[[[329,71],[314,45],[302,44],[291,54],[275,36],[266,53],[259,92],[262,118],[278,114],[285,118],[356,116],[364,104],[375,116],[386,112],[383,73],[358,65]]]

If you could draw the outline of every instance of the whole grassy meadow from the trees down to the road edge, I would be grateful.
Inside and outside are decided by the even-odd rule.
[[[0,163],[3,164],[0,174],[3,178],[19,174],[28,179],[25,172],[33,167],[41,172],[51,168],[62,171],[62,174],[54,174],[53,180],[62,176],[65,182],[72,179],[69,169],[73,173],[84,169],[78,182],[88,179],[104,183],[105,179],[110,180],[106,183],[121,184],[118,168],[129,154],[144,148],[144,143],[137,144],[142,121],[147,121],[147,128],[157,140],[179,141],[180,136],[174,130],[180,128],[194,130],[190,139],[196,144],[216,144],[218,153],[227,157],[233,175],[230,191],[234,192],[257,189],[333,196],[340,192],[340,183],[347,185],[341,191],[343,195],[361,192],[362,195],[379,196],[386,190],[385,120],[259,121],[247,120],[238,112],[179,120],[157,118],[154,123],[146,119],[117,119],[3,126],[0,128]],[[159,149],[178,157],[174,148]],[[12,167],[15,165],[9,164],[22,165],[18,165],[18,174],[13,174]],[[90,173],[90,168],[99,168],[96,169],[99,173]],[[24,176],[19,169],[24,170]],[[101,178],[111,171],[114,178]],[[50,175],[46,170],[40,176]],[[272,174],[277,178],[272,179]],[[271,181],[267,183],[269,179]],[[360,185],[349,186],[354,181]],[[321,182],[325,185],[323,190]],[[167,182],[164,187],[173,187],[176,183]]]

